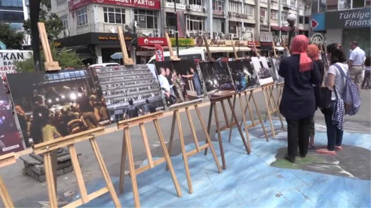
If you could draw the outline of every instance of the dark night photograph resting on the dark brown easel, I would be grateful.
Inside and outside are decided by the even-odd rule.
[[[223,97],[236,91],[226,61],[199,62],[199,64],[210,98]]]

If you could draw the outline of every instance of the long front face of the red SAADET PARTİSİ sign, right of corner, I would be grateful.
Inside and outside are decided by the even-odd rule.
[[[116,6],[136,7],[144,9],[160,9],[160,0],[92,0],[94,3],[112,4]]]

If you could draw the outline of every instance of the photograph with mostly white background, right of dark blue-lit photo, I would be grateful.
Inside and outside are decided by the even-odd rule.
[[[272,83],[273,78],[269,72],[269,66],[267,59],[263,56],[260,57],[251,57],[251,63],[254,67],[254,70],[259,78],[259,84],[264,85],[267,83]]]

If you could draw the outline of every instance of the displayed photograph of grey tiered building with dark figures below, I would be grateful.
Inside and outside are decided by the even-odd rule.
[[[165,109],[154,64],[101,67],[92,74],[98,77],[115,123]]]

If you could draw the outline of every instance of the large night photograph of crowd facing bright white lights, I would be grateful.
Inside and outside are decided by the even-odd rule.
[[[88,70],[7,74],[26,147],[111,123]]]

